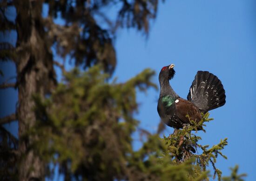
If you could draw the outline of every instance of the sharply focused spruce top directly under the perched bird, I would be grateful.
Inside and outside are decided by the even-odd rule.
[[[189,118],[189,115],[187,115]],[[172,159],[177,163],[183,163],[188,160],[191,156],[196,159],[196,166],[201,168],[199,173],[206,171],[209,164],[212,164],[214,169],[213,178],[218,177],[218,181],[221,181],[221,170],[216,168],[216,158],[221,155],[223,158],[227,159],[227,156],[223,155],[221,150],[228,144],[227,138],[220,141],[219,144],[213,145],[209,148],[209,145],[198,144],[201,137],[196,136],[191,131],[197,131],[200,128],[205,131],[203,126],[205,122],[209,122],[209,113],[202,114],[202,120],[195,122],[190,120],[190,124],[185,125],[182,130],[178,130],[176,134],[172,134],[171,137],[164,137],[165,143],[168,145],[168,151]],[[202,154],[195,154],[197,148],[202,150]]]

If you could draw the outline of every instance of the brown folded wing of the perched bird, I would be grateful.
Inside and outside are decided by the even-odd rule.
[[[176,114],[185,124],[189,123],[189,118],[190,120],[194,120],[196,122],[201,120],[201,113],[190,101],[179,98],[178,101],[175,101],[175,104]],[[187,118],[186,115],[189,115],[189,118]]]

